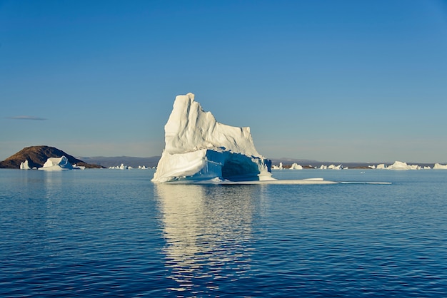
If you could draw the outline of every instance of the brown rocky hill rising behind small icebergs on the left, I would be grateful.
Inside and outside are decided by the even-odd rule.
[[[30,168],[41,168],[47,159],[60,158],[64,155],[72,165],[81,165],[86,168],[103,168],[101,165],[92,165],[84,163],[84,161],[74,158],[58,148],[49,146],[31,146],[20,150],[18,153],[11,155],[6,160],[0,162],[0,168],[19,169],[20,164],[28,160]]]

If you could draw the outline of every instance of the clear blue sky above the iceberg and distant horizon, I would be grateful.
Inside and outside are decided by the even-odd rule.
[[[0,0],[0,160],[161,155],[189,92],[266,158],[447,163],[447,1]]]

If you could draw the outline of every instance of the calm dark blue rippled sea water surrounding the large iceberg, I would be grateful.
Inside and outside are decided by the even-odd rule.
[[[0,170],[1,297],[445,297],[447,170]]]

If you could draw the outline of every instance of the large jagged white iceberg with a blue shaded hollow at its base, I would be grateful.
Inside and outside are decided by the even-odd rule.
[[[153,182],[274,180],[271,160],[256,151],[250,128],[217,122],[192,93],[176,96],[164,130],[165,148]]]

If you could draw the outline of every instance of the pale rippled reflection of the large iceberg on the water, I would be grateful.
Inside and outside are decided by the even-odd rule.
[[[204,293],[248,278],[253,253],[253,185],[155,185],[174,291]],[[254,193],[256,192],[256,193]],[[228,287],[228,285],[226,285]]]

